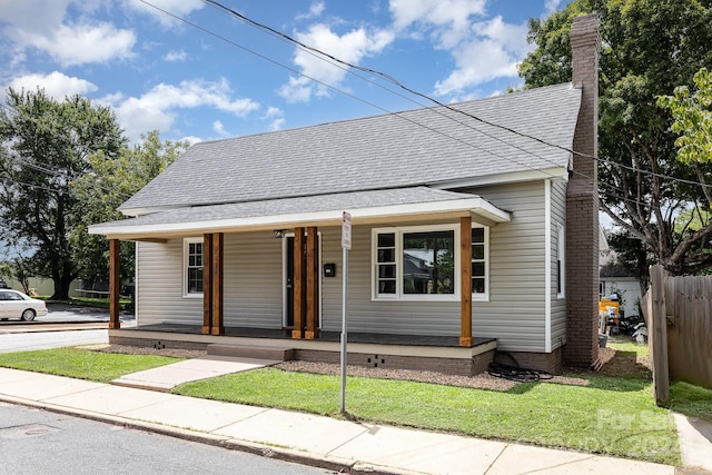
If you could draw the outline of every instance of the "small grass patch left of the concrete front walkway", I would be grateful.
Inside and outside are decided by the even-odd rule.
[[[120,376],[180,362],[158,355],[121,355],[65,347],[0,354],[0,366],[98,383]]]

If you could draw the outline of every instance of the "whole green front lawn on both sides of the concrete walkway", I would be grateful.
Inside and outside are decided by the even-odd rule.
[[[653,402],[647,348],[611,346],[616,354],[602,372],[567,375],[585,385],[520,383],[496,392],[349,377],[347,417],[680,465],[672,415]],[[0,355],[0,366],[105,383],[178,360],[80,348]],[[186,384],[174,393],[344,417],[339,382],[338,376],[264,368]],[[673,410],[712,420],[712,390],[674,383],[671,393]]]

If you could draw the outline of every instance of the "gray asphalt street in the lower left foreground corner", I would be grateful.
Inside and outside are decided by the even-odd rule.
[[[0,403],[0,473],[327,474],[320,468]]]

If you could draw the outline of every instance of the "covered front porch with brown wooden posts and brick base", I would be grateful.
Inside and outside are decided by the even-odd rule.
[[[369,206],[366,206],[370,204]],[[258,207],[259,209],[253,209]],[[340,209],[339,209],[340,208]],[[271,214],[265,215],[265,209]],[[364,229],[360,235],[360,278],[362,284],[372,271],[369,266],[364,266],[366,259],[373,255],[372,248],[373,227],[389,229],[411,226],[425,229],[446,226],[451,236],[451,244],[455,249],[452,253],[451,269],[454,281],[451,281],[449,294],[435,296],[437,306],[428,304],[429,300],[413,300],[399,303],[397,299],[379,298],[375,300],[368,286],[362,285],[362,294],[356,303],[360,305],[360,328],[348,333],[349,358],[356,358],[356,364],[399,365],[399,367],[422,367],[431,369],[443,368],[452,364],[457,368],[454,373],[471,374],[473,360],[479,355],[488,354],[496,347],[494,339],[476,338],[473,335],[473,279],[472,279],[472,234],[473,224],[495,226],[511,219],[507,211],[501,210],[481,197],[467,194],[454,194],[428,188],[356,192],[335,196],[307,197],[299,199],[274,200],[260,204],[215,205],[204,207],[169,209],[125,221],[116,221],[99,225],[92,232],[103,234],[110,243],[110,337],[112,342],[130,343],[136,345],[158,345],[157,342],[181,346],[207,346],[222,343],[229,345],[257,345],[279,346],[293,348],[299,359],[328,360],[336,358],[338,354],[339,333],[336,329],[336,308],[340,309],[340,293],[334,291],[336,279],[329,279],[330,291],[328,295],[327,330],[323,330],[320,305],[320,273],[319,239],[325,232],[328,238],[330,259],[336,255],[336,230],[340,227],[342,209],[352,214],[352,222],[355,229]],[[303,212],[298,212],[301,210]],[[305,211],[306,210],[306,211]],[[258,243],[275,239],[271,235],[293,235],[289,240],[280,239],[285,249],[289,250],[293,260],[293,275],[289,285],[290,298],[284,298],[286,308],[289,309],[290,319],[278,325],[275,321],[275,308],[266,314],[267,320],[250,319],[250,325],[241,325],[240,321],[249,319],[251,315],[248,308],[239,307],[235,298],[244,293],[245,287],[237,285],[236,261],[226,259],[226,243],[231,249],[228,255],[235,256],[239,246],[240,236]],[[422,235],[423,232],[421,232]],[[435,232],[433,232],[435,234]],[[199,295],[200,300],[192,298],[182,303],[176,296],[176,305],[190,304],[191,309],[184,311],[184,320],[180,324],[169,321],[152,321],[154,325],[141,325],[132,329],[122,329],[118,318],[118,289],[119,289],[119,243],[120,240],[134,240],[147,243],[151,246],[174,246],[179,240],[201,236],[201,278]],[[288,244],[287,244],[288,243]],[[231,247],[230,247],[231,246]],[[269,246],[274,249],[274,246]],[[244,248],[244,247],[243,247]],[[380,250],[380,248],[378,248]],[[286,251],[285,251],[286,255]],[[175,256],[175,253],[172,254]],[[244,255],[249,257],[249,255]],[[175,257],[172,258],[175,261]],[[291,261],[290,260],[290,261]],[[227,261],[227,263],[226,263]],[[273,266],[274,266],[273,260]],[[228,280],[228,318],[226,321],[226,266],[233,271],[233,279]],[[175,268],[175,267],[174,267]],[[275,269],[275,267],[270,267]],[[255,270],[255,268],[253,268]],[[264,273],[263,273],[264,274]],[[175,274],[174,274],[175,275]],[[229,273],[228,273],[229,275]],[[241,271],[240,281],[254,276],[249,271]],[[261,275],[261,274],[260,274]],[[273,271],[263,276],[260,284],[274,288],[278,285]],[[348,278],[340,271],[339,277]],[[184,276],[185,278],[185,276]],[[137,289],[141,288],[139,276]],[[338,279],[340,280],[340,279]],[[146,280],[144,281],[146,283]],[[378,284],[378,283],[377,283]],[[185,285],[185,283],[184,283]],[[373,284],[372,284],[373,288]],[[425,286],[423,286],[425,288]],[[423,290],[421,290],[423,291]],[[436,291],[436,290],[435,290]],[[435,294],[433,291],[433,294]],[[237,293],[237,294],[236,294]],[[403,291],[405,294],[405,291]],[[138,294],[140,295],[140,294]],[[271,291],[273,303],[275,293]],[[408,297],[409,296],[405,296]],[[425,295],[423,297],[426,297]],[[145,296],[146,298],[146,296]],[[152,297],[151,297],[152,298]],[[145,300],[144,300],[145,301]],[[423,303],[421,303],[423,301]],[[195,305],[201,305],[201,325],[198,324],[200,309]],[[405,306],[403,304],[406,304]],[[142,301],[139,298],[140,314]],[[369,314],[364,310],[369,306],[376,306],[378,314]],[[407,309],[406,309],[407,308]],[[181,311],[180,307],[174,307],[174,311]],[[411,318],[417,313],[417,325]],[[339,310],[340,314],[340,310]],[[186,316],[187,315],[187,316]],[[386,323],[380,328],[364,324],[370,319],[378,324]],[[448,325],[447,330],[443,327]],[[279,326],[277,328],[277,326]],[[432,328],[433,330],[429,330]],[[373,329],[373,333],[372,333]],[[447,335],[447,336],[444,336]],[[151,343],[152,342],[152,343]],[[388,358],[384,358],[387,355]],[[350,362],[349,359],[349,362]],[[388,363],[384,363],[384,362]],[[417,363],[419,360],[419,363]],[[452,362],[451,362],[452,360]],[[449,363],[448,363],[449,362]],[[456,362],[456,363],[453,363]],[[427,364],[426,364],[427,363]]]

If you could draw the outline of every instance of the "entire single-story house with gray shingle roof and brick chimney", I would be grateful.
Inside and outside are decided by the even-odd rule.
[[[115,283],[138,243],[138,327],[112,310],[110,339],[338,360],[348,211],[349,363],[596,364],[597,44],[577,19],[573,83],[192,146],[90,228]]]

